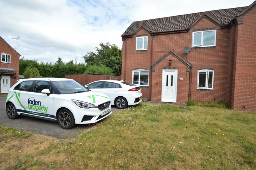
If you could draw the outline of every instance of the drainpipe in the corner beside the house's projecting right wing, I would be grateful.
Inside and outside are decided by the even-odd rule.
[[[229,97],[228,97],[228,107],[231,109],[231,99],[232,99],[232,87],[233,87],[233,73],[234,73],[234,56],[235,56],[235,36],[236,36],[236,25],[234,25],[233,35],[232,35],[232,51],[231,51],[231,61],[230,61],[230,85],[229,85]]]

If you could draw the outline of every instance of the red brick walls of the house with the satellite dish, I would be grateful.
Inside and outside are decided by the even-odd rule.
[[[253,10],[255,11],[255,9]],[[230,61],[231,61],[231,52],[232,52],[232,35],[233,35],[233,29],[238,29],[238,34],[242,34],[245,36],[245,32],[248,32],[246,35],[247,37],[244,37],[244,39],[241,41],[241,43],[238,43],[237,46],[235,46],[235,56],[234,56],[234,63],[237,64],[236,61],[236,48],[238,47],[238,54],[237,57],[241,60],[239,63],[244,63],[242,60],[244,60],[244,55],[242,54],[247,52],[246,56],[247,58],[249,56],[249,61],[246,65],[242,64],[241,66],[247,67],[250,66],[250,68],[246,69],[246,73],[248,75],[248,80],[251,80],[254,78],[254,81],[251,80],[250,83],[248,81],[248,84],[251,87],[248,89],[248,91],[245,91],[244,89],[241,89],[241,91],[245,92],[244,97],[241,97],[241,99],[245,100],[247,96],[250,101],[250,103],[254,102],[254,109],[255,109],[255,88],[256,88],[256,78],[255,78],[255,26],[254,32],[248,28],[250,24],[253,24],[253,18],[255,20],[255,13],[253,11],[249,12],[248,17],[244,17],[244,24],[247,23],[247,18],[250,20],[249,25],[241,24],[236,27],[231,27],[230,29],[221,29],[217,25],[215,25],[210,20],[203,18],[200,20],[193,28],[189,30],[189,32],[185,33],[175,33],[175,34],[165,34],[165,35],[154,35],[153,36],[153,52],[152,52],[152,62],[150,62],[151,59],[151,42],[152,42],[152,36],[147,33],[144,29],[141,29],[136,35],[138,34],[148,34],[148,50],[147,52],[135,52],[135,45],[136,45],[136,35],[134,35],[132,38],[124,39],[123,41],[123,60],[122,60],[122,79],[124,79],[127,82],[132,81],[132,69],[133,68],[148,68],[150,69],[150,74],[153,75],[153,77],[150,77],[150,86],[149,88],[144,88],[142,90],[142,94],[144,98],[151,99],[155,102],[161,101],[161,90],[162,90],[162,69],[163,67],[168,67],[168,60],[172,59],[172,65],[171,67],[178,67],[178,88],[177,88],[177,103],[186,103],[188,101],[189,96],[189,74],[191,74],[192,81],[191,81],[191,99],[202,102],[202,101],[222,101],[222,102],[228,102],[229,101],[229,86],[230,86]],[[250,14],[252,13],[252,14]],[[250,15],[249,15],[250,14]],[[241,28],[244,29],[243,32],[241,32],[240,27],[243,26],[247,28]],[[212,49],[206,49],[206,48],[191,48],[192,44],[192,32],[193,29],[203,29],[203,28],[211,28],[216,27],[216,47]],[[237,28],[238,27],[238,28]],[[237,31],[236,31],[237,32]],[[241,32],[241,33],[240,33]],[[245,41],[248,40],[248,36],[251,36],[250,43]],[[241,39],[241,38],[240,38]],[[236,40],[237,42],[240,42],[240,39]],[[126,46],[127,41],[127,46]],[[244,44],[242,44],[242,42]],[[248,43],[250,45],[246,45],[245,43]],[[239,48],[240,46],[245,45],[246,48]],[[253,46],[254,45],[254,46]],[[188,46],[191,49],[191,52],[188,54],[185,54],[183,51],[183,47]],[[127,47],[127,49],[126,49]],[[170,49],[173,49],[174,52],[178,53],[181,57],[183,57],[185,60],[187,60],[189,63],[192,64],[191,72],[186,72],[186,66],[178,61],[174,56],[169,55],[166,57],[163,61],[161,61],[157,66],[155,71],[152,72],[150,65],[155,63],[159,58],[161,58],[164,54],[166,54]],[[249,49],[254,49],[249,50]],[[254,66],[254,67],[253,67]],[[197,71],[198,68],[213,68],[214,69],[214,85],[213,90],[208,91],[199,91],[197,90]],[[237,70],[236,65],[234,65],[234,69]],[[254,71],[252,71],[254,70]],[[250,72],[251,71],[251,72]],[[250,72],[250,73],[249,73]],[[186,75],[187,74],[187,75]],[[243,74],[243,73],[242,73]],[[254,75],[254,77],[252,77]],[[234,81],[237,80],[237,73],[233,75]],[[180,78],[183,78],[183,80],[180,80]],[[243,76],[243,79],[245,77]],[[250,79],[251,78],[251,79]],[[242,79],[242,77],[241,77]],[[252,85],[254,83],[254,85]],[[233,86],[235,87],[233,83]],[[237,84],[238,85],[238,84]],[[240,84],[242,85],[242,84]],[[240,86],[238,85],[238,86]],[[254,88],[254,94],[249,93]],[[151,89],[152,94],[151,94]],[[237,93],[240,93],[237,92]],[[238,94],[239,95],[239,94]],[[254,96],[253,96],[254,95]],[[235,100],[234,103],[238,100],[236,97],[237,95],[234,95]],[[214,100],[216,99],[216,100]],[[233,97],[232,97],[233,99]],[[239,99],[240,100],[240,99]],[[232,101],[233,103],[233,101]],[[234,104],[236,105],[236,104]],[[239,106],[240,107],[240,106]],[[256,109],[255,109],[256,110]]]

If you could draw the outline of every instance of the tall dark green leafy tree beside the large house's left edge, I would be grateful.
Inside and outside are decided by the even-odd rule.
[[[82,56],[87,65],[106,66],[113,70],[114,75],[121,75],[122,50],[115,44],[100,43],[100,48],[96,47],[96,52],[87,52]]]

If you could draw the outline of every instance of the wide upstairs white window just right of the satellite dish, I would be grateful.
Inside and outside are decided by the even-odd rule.
[[[216,46],[216,30],[196,31],[192,34],[192,47]]]

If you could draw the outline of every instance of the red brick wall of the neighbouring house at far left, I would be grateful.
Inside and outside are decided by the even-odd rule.
[[[2,60],[1,60],[0,67],[13,68],[16,71],[16,74],[13,76],[11,74],[2,74],[2,75],[9,75],[11,77],[10,86],[12,86],[19,79],[19,57],[20,56],[0,38],[0,54],[2,54],[2,53],[11,55],[11,63],[2,63],[1,62]],[[0,59],[1,59],[1,56],[0,56]],[[16,76],[16,79],[14,78],[15,76]]]

